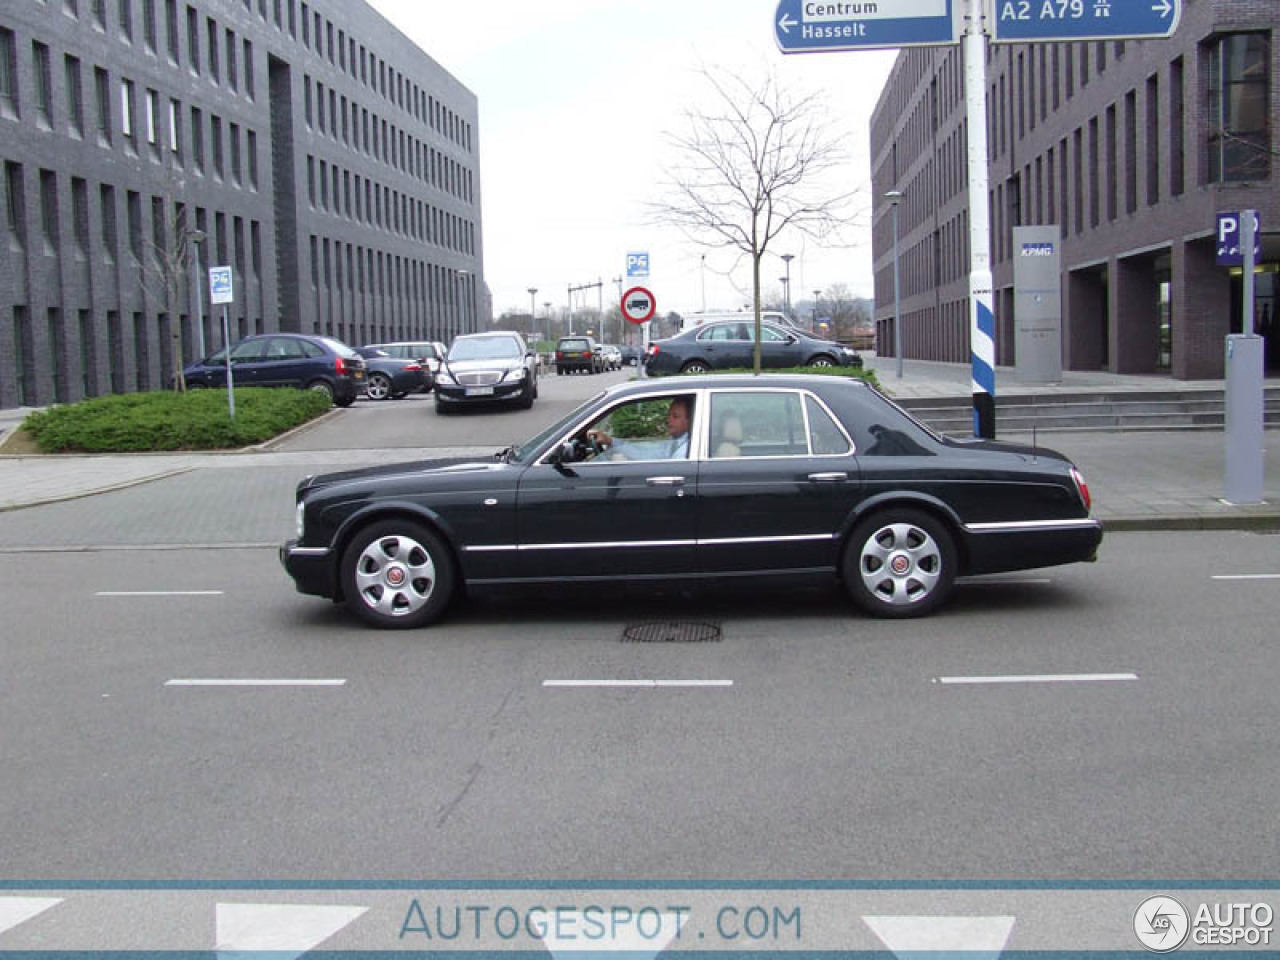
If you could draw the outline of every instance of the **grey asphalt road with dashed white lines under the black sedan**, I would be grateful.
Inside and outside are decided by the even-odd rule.
[[[1212,577],[1276,556],[1120,534],[918,622],[567,593],[388,634],[268,549],[9,552],[0,873],[1274,878],[1280,581]],[[654,618],[722,639],[622,641]]]

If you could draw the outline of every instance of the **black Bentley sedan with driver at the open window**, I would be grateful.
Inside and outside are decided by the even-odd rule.
[[[860,380],[728,375],[613,387],[492,461],[308,476],[280,561],[380,627],[431,622],[463,585],[794,573],[915,617],[957,576],[1101,540],[1059,453],[938,436]]]

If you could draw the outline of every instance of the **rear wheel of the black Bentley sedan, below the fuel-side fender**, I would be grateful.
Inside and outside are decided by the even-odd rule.
[[[951,594],[955,540],[946,525],[919,509],[879,511],[854,527],[845,544],[845,589],[873,617],[905,620],[932,613]]]

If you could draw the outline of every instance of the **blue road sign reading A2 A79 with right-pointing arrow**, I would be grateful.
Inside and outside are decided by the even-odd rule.
[[[992,0],[991,40],[1142,40],[1178,28],[1183,0]]]

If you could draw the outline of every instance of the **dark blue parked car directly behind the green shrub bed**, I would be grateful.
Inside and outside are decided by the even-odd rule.
[[[197,360],[182,372],[192,389],[227,387],[227,351]],[[237,387],[319,390],[339,407],[349,407],[365,392],[365,361],[332,337],[264,333],[232,347],[232,378]]]

